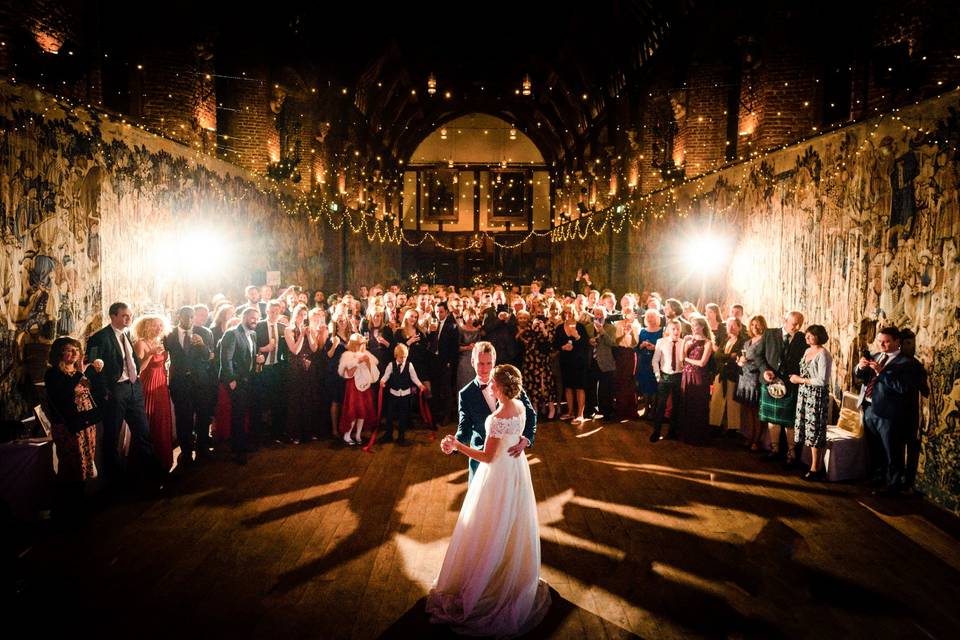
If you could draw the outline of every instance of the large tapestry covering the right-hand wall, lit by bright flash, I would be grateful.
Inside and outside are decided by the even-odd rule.
[[[773,324],[799,309],[830,334],[835,393],[878,324],[913,329],[932,389],[921,484],[960,511],[958,145],[952,91],[654,194],[610,216],[612,240],[581,226],[585,240],[554,245],[554,281],[587,266],[617,291],[741,302]],[[691,256],[704,236],[725,248]],[[610,279],[594,271],[608,253]]]

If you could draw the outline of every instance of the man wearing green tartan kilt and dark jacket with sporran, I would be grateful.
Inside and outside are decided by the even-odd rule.
[[[786,461],[788,465],[796,461],[796,448],[793,441],[793,426],[797,415],[797,385],[790,382],[791,375],[800,374],[800,360],[807,350],[806,339],[800,327],[803,326],[803,314],[791,311],[783,317],[783,327],[767,329],[760,338],[759,368],[763,377],[760,385],[760,421],[767,423],[770,431],[770,452],[766,459],[772,460],[780,455],[780,428],[786,431]],[[770,384],[775,380],[783,382],[786,393],[782,398],[770,394]]]

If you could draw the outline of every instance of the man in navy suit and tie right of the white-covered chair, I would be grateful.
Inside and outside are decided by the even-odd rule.
[[[871,482],[883,485],[875,493],[903,490],[904,452],[911,396],[919,390],[921,371],[916,358],[900,351],[900,330],[884,327],[877,335],[880,351],[860,358],[854,376],[864,382],[857,406],[863,411],[863,431],[870,447]]]

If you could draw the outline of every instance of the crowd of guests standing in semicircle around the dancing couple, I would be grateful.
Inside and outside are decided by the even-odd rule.
[[[184,306],[172,323],[134,321],[118,302],[85,348],[69,336],[54,342],[46,388],[70,491],[93,473],[97,424],[104,479],[135,473],[150,485],[168,477],[177,444],[187,466],[221,443],[239,464],[259,446],[320,438],[356,446],[379,432],[405,443],[414,417],[431,429],[456,419],[480,340],[521,370],[543,419],[643,418],[652,442],[739,434],[750,451],[768,442],[765,457],[791,466],[806,446],[803,477],[825,479],[833,358],[824,327],[804,328],[798,311],[769,327],[738,304],[700,313],[655,292],[618,299],[582,272],[567,291],[375,285],[328,297],[248,286],[244,296]],[[904,449],[918,447],[918,394],[927,392],[909,338],[881,329],[879,352],[857,367],[872,478],[888,493],[912,481]]]

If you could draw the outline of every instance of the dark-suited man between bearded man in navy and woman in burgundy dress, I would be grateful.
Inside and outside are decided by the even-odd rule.
[[[287,439],[286,369],[289,349],[283,337],[279,300],[267,303],[267,317],[257,323],[257,349],[264,357],[263,369],[256,376],[257,404],[270,412],[270,435],[274,443]]]

